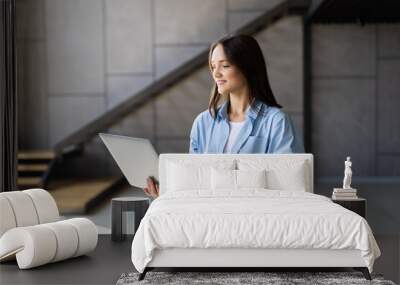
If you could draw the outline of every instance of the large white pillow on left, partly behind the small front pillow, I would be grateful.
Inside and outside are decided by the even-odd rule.
[[[211,168],[233,170],[235,161],[170,161],[167,169],[167,191],[210,190]]]

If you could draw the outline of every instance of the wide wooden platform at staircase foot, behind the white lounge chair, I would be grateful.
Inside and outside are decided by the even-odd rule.
[[[102,178],[81,181],[59,182],[53,185],[50,194],[57,203],[60,213],[84,213],[90,201],[107,191],[118,178]]]

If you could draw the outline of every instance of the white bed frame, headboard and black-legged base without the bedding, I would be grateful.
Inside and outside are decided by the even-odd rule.
[[[260,154],[161,154],[159,160],[160,185],[165,185],[167,163],[175,159],[217,160],[241,158],[256,158]],[[261,156],[264,156],[261,154]],[[268,154],[271,159],[305,160],[309,169],[307,192],[313,193],[313,155],[312,154]],[[161,194],[168,189],[161,188]],[[359,250],[332,249],[254,249],[254,248],[169,248],[157,249],[153,259],[139,280],[155,268],[230,268],[234,271],[254,271],[254,269],[270,268],[343,268],[350,267],[361,271],[367,280],[371,280],[369,270],[361,257]]]

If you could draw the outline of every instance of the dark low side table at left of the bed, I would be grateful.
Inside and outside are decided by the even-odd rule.
[[[145,197],[118,197],[111,200],[111,240],[123,241],[126,235],[122,232],[122,215],[124,212],[135,213],[135,232],[146,214],[150,200]]]

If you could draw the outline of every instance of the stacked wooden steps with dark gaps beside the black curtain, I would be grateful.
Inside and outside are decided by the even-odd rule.
[[[18,152],[18,189],[44,188],[55,160],[53,150],[21,150]]]

